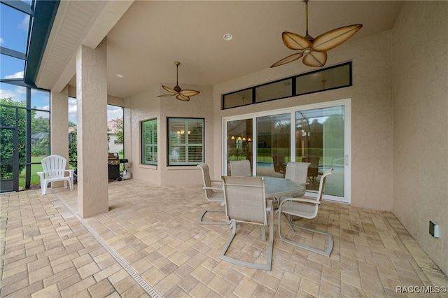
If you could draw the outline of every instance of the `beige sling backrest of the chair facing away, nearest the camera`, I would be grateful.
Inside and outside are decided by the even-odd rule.
[[[262,177],[223,176],[223,187],[228,218],[267,225],[265,180]]]

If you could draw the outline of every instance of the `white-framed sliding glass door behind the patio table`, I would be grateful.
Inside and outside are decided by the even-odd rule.
[[[316,195],[333,169],[324,198],[350,202],[350,100],[223,119],[224,175],[228,162],[249,159],[254,175],[283,177],[288,162],[309,162],[307,194]],[[253,132],[256,132],[255,134]]]

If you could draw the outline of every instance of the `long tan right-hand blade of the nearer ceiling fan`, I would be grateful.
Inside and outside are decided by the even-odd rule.
[[[318,52],[331,50],[351,38],[351,36],[356,34],[362,27],[362,24],[353,24],[325,32],[314,38],[311,48]]]

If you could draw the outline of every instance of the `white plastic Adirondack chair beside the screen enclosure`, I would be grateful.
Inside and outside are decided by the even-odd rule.
[[[73,190],[73,173],[74,170],[65,169],[67,159],[59,155],[49,155],[41,160],[43,171],[37,172],[41,178],[42,194],[46,194],[47,185],[50,182],[64,181],[64,187],[67,188],[67,182],[70,185],[70,190]],[[69,176],[65,176],[69,173]]]

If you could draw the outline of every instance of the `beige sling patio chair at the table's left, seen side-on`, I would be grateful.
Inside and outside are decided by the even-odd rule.
[[[218,202],[221,203],[221,206],[224,205],[224,192],[222,187],[221,180],[211,180],[210,179],[210,172],[209,172],[209,166],[208,164],[198,164],[198,168],[202,170],[202,180],[204,182],[204,187],[202,189],[205,192],[205,198],[207,201],[211,202]],[[216,183],[219,183],[219,185],[213,186],[212,183],[216,185]],[[200,216],[199,216],[199,223],[200,225],[229,225],[230,221],[226,220],[225,222],[210,222],[210,221],[204,221],[205,213],[207,212],[223,212],[225,213],[225,209],[206,209],[204,210]]]

